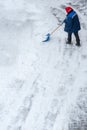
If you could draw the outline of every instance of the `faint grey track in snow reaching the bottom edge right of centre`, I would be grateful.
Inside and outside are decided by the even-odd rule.
[[[64,94],[64,95],[62,97],[60,94],[59,99],[58,99],[58,97],[59,97],[58,94],[60,94],[59,89],[58,89],[58,91],[56,91],[56,95],[52,100],[50,109],[44,118],[43,130],[49,130],[49,129],[52,130],[54,125],[55,125],[55,122],[56,122],[58,115],[60,115],[60,111],[61,111],[63,103],[65,102],[67,93],[65,93],[65,89],[62,89],[62,94]]]

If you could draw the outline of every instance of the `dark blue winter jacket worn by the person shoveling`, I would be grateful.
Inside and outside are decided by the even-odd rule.
[[[64,31],[66,32],[73,33],[78,32],[81,29],[78,15],[74,10],[72,10],[66,15],[66,19],[64,20],[64,22]]]

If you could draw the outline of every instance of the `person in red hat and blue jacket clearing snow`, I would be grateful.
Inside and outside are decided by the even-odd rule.
[[[80,27],[80,22],[77,13],[70,7],[65,8],[67,15],[64,20],[65,23],[65,28],[64,31],[68,33],[68,38],[67,38],[67,44],[71,44],[72,42],[72,33],[74,33],[75,38],[76,38],[76,45],[80,46],[80,39],[78,35],[78,31],[81,29]]]

